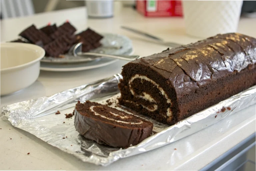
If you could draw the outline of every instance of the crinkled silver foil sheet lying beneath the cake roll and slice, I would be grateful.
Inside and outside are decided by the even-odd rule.
[[[107,166],[120,158],[144,153],[177,141],[256,103],[256,86],[253,86],[173,126],[131,112],[152,121],[154,128],[153,135],[127,149],[97,144],[79,135],[74,127],[74,117],[65,118],[64,114],[73,112],[77,100],[106,103],[107,99],[111,99],[112,107],[118,106],[116,103],[120,94],[117,85],[120,78],[122,76],[117,74],[50,97],[4,106],[2,114],[13,126],[37,136],[62,151],[73,154],[84,162]],[[116,108],[126,110],[123,107]],[[58,110],[60,114],[55,114]]]

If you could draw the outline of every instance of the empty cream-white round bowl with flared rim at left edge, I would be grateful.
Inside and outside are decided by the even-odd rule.
[[[44,49],[33,44],[0,43],[0,96],[33,84],[44,55]]]

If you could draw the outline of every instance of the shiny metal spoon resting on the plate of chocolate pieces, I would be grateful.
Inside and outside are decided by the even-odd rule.
[[[108,54],[102,54],[102,53],[92,53],[92,52],[82,52],[82,42],[77,43],[73,45],[69,51],[68,54],[74,55],[74,56],[81,56],[81,57],[88,57],[92,60],[101,58],[101,57],[107,57],[107,58],[114,58],[114,59],[121,59],[121,60],[127,60],[127,61],[133,61],[135,59],[138,59],[140,56],[138,55],[108,55]],[[94,56],[94,57],[93,57]]]

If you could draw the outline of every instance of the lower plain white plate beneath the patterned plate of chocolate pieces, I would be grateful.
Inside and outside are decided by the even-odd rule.
[[[129,49],[124,55],[132,55],[134,53],[133,48]],[[56,63],[44,63],[41,62],[40,69],[43,71],[82,71],[94,68],[100,68],[110,65],[116,62],[118,59],[102,58],[97,61],[80,62],[70,64],[56,64]]]

